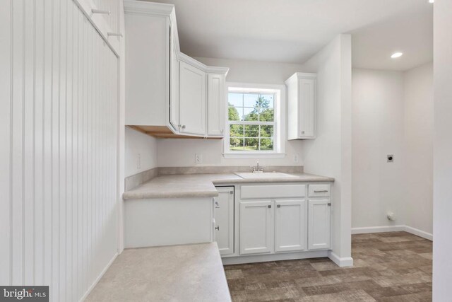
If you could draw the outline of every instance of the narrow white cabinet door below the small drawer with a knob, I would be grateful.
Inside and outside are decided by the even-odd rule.
[[[331,248],[331,201],[309,200],[309,250]]]

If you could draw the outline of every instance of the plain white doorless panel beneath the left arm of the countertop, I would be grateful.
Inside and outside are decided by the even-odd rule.
[[[211,242],[212,197],[128,199],[126,248]]]

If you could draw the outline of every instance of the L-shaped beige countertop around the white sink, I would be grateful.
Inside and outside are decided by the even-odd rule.
[[[227,174],[183,174],[162,175],[143,183],[123,194],[126,199],[177,198],[177,197],[215,197],[215,185],[234,185],[266,182],[333,182],[327,178],[311,174],[293,174],[295,178],[241,178],[233,173]]]

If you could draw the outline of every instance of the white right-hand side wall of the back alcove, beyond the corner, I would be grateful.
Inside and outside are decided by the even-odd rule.
[[[403,91],[405,224],[432,234],[433,64],[403,73]]]

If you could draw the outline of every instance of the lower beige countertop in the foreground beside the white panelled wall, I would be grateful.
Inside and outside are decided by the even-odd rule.
[[[124,250],[86,301],[230,302],[217,243]]]

